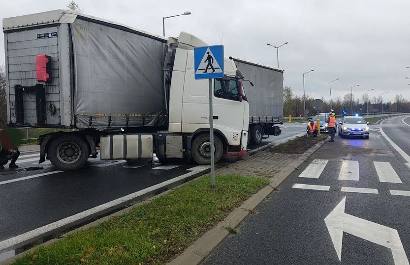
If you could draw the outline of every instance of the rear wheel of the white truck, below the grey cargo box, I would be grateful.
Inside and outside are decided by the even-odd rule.
[[[54,139],[48,148],[51,163],[60,170],[76,170],[90,156],[87,143],[76,135],[62,135]]]

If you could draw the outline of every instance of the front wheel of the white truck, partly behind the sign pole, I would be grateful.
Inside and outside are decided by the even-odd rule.
[[[214,135],[215,163],[223,155],[223,145],[221,139]],[[204,133],[196,137],[191,145],[192,158],[200,165],[211,164],[211,139],[209,133]]]

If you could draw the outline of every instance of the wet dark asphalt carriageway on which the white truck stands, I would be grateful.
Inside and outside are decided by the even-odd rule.
[[[281,135],[270,136],[250,149],[304,132],[305,126],[284,125]],[[43,169],[13,171],[7,165],[0,172],[0,244],[2,240],[186,174],[196,166],[181,163],[158,167],[161,165],[152,166],[146,161],[128,165],[125,160],[97,158],[89,159],[79,170],[58,171],[49,161],[39,165],[38,158],[38,153],[25,153],[17,164],[23,169]]]

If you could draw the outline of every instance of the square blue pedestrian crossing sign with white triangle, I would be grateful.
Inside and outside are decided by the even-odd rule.
[[[223,45],[193,49],[195,79],[223,77]]]

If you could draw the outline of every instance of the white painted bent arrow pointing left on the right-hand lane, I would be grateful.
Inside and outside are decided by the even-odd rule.
[[[346,197],[324,218],[339,261],[342,259],[343,232],[388,247],[394,264],[409,265],[406,252],[396,229],[345,213]]]

